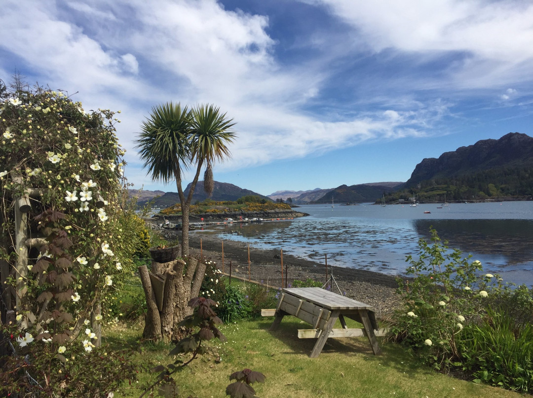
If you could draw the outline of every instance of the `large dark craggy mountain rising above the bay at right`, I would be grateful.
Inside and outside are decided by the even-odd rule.
[[[510,132],[424,159],[402,188],[454,200],[533,195],[533,138]]]

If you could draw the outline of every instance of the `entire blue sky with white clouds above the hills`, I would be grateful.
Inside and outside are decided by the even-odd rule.
[[[121,111],[138,189],[177,190],[135,149],[169,101],[237,123],[214,179],[262,195],[406,181],[426,157],[533,136],[529,0],[2,0],[0,38],[6,84]]]

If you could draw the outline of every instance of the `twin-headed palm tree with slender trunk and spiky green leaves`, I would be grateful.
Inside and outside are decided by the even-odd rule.
[[[168,183],[176,180],[182,212],[181,250],[189,255],[189,207],[198,182],[200,171],[207,163],[204,186],[213,192],[212,164],[230,156],[227,144],[233,141],[235,132],[232,119],[226,119],[214,105],[198,105],[192,110],[172,102],[152,108],[141,126],[141,136],[136,147],[148,167],[152,180]],[[196,173],[187,198],[182,189],[182,168],[196,163]],[[209,190],[210,189],[210,190]]]

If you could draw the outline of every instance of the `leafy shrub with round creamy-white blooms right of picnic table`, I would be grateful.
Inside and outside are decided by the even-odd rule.
[[[395,313],[393,335],[426,363],[446,370],[459,359],[457,348],[466,322],[483,315],[483,301],[498,295],[502,280],[482,275],[479,261],[462,257],[430,230],[431,244],[420,239],[417,257],[407,256],[408,279],[399,280],[402,307]]]

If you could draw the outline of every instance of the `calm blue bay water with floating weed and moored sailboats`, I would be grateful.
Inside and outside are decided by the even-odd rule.
[[[533,202],[409,205],[307,205],[292,221],[221,227],[221,238],[329,265],[402,274],[408,254],[432,226],[451,248],[472,254],[485,272],[533,285]],[[424,211],[430,211],[425,214]],[[224,230],[222,230],[224,229]],[[228,230],[233,234],[228,234]]]

